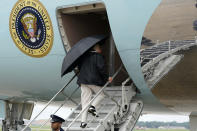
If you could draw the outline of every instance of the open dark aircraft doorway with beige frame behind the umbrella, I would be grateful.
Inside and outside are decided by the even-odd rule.
[[[59,30],[66,52],[79,40],[93,35],[107,35],[102,44],[102,54],[106,61],[109,75],[112,76],[122,64],[115,47],[105,6],[101,3],[59,8],[57,11]],[[114,79],[113,85],[120,86],[128,78],[126,69],[122,69]]]

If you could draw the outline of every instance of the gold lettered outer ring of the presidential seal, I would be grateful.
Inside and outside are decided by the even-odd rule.
[[[44,11],[44,14],[48,17],[48,22],[49,22],[49,26],[50,26],[50,32],[51,32],[51,37],[50,37],[50,43],[49,43],[49,47],[48,47],[48,49],[44,52],[44,53],[42,53],[42,54],[39,54],[39,55],[36,55],[36,54],[30,54],[30,53],[27,53],[27,51],[25,51],[25,50],[23,50],[18,44],[17,44],[17,41],[16,41],[16,39],[15,39],[15,37],[14,37],[14,35],[13,35],[13,29],[11,28],[12,27],[12,16],[13,16],[13,14],[14,14],[14,11],[15,11],[15,9],[16,9],[16,7],[18,7],[18,5],[22,2],[22,1],[30,1],[30,2],[35,2],[35,3],[37,3],[42,9],[43,9],[43,11]],[[25,7],[27,7],[27,6],[25,6]],[[33,7],[34,8],[34,7]],[[19,10],[20,11],[20,10]],[[18,11],[18,12],[19,12]],[[38,10],[37,10],[38,11]],[[39,11],[38,11],[39,12]],[[40,12],[39,12],[40,13]],[[42,15],[41,15],[42,16]],[[45,22],[44,22],[45,23]],[[46,23],[45,23],[46,24]],[[46,26],[46,25],[45,25]],[[50,51],[51,51],[51,48],[52,48],[52,46],[53,46],[53,41],[54,41],[54,32],[53,32],[53,26],[52,26],[52,21],[51,21],[51,19],[50,19],[50,16],[49,16],[49,14],[48,14],[48,11],[46,10],[46,8],[44,7],[44,5],[39,1],[39,0],[18,0],[16,3],[15,3],[15,5],[14,5],[14,7],[12,8],[12,11],[11,11],[11,13],[10,13],[10,19],[9,19],[9,30],[10,30],[10,34],[11,34],[11,37],[12,37],[12,39],[13,39],[13,41],[14,41],[14,43],[15,43],[15,45],[19,48],[19,50],[21,50],[24,54],[26,54],[26,55],[28,55],[28,56],[31,56],[31,57],[35,57],[35,58],[40,58],[40,57],[44,57],[44,56],[46,56]],[[15,29],[15,31],[16,31],[16,29]],[[47,31],[46,31],[46,35],[47,35]],[[18,39],[19,39],[19,37],[18,36],[16,36]],[[47,40],[45,40],[45,43],[43,44],[43,46],[46,44],[46,41]],[[21,44],[23,44],[21,41],[20,41],[20,43]],[[24,46],[24,48],[26,48],[27,50],[29,49],[29,50],[35,50],[35,49],[31,49],[31,48],[29,48],[29,47],[27,47],[27,46],[25,46],[24,44],[23,44],[23,46]],[[42,47],[43,47],[42,46]],[[39,49],[41,49],[42,47],[40,47]],[[36,49],[36,50],[39,50],[39,49]]]

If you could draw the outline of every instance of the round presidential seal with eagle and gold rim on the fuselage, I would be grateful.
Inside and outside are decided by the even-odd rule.
[[[53,45],[50,17],[39,0],[19,0],[10,14],[10,34],[16,46],[32,57],[46,56]]]

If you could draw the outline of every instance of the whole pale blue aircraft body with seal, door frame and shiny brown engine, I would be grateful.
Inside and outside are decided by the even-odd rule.
[[[197,129],[192,124],[197,122],[195,0],[1,0],[0,10],[0,117],[5,122],[30,119],[34,102],[49,101],[72,78],[74,72],[61,77],[61,67],[76,42],[111,32],[116,53],[110,54],[109,41],[103,48],[107,60],[116,61],[109,71],[121,63],[126,69],[114,85],[129,76],[136,99],[144,103],[142,114],[187,115],[191,130]],[[173,42],[186,46],[168,49],[169,59],[150,57],[153,75],[146,77],[143,51],[166,42],[169,48]],[[55,102],[77,88],[74,79]],[[79,102],[80,90],[71,99]],[[67,105],[73,106],[72,100]]]

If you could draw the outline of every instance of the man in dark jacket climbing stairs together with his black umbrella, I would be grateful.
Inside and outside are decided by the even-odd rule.
[[[104,58],[101,55],[102,51],[98,44],[104,43],[105,39],[105,35],[95,35],[81,39],[68,51],[62,64],[62,77],[73,71],[76,66],[79,68],[77,83],[81,87],[82,109],[84,109],[91,101],[93,92],[97,93],[107,81],[110,83],[112,81],[112,77],[108,78],[107,76]],[[72,77],[68,84],[76,76],[77,73]],[[104,93],[102,92],[93,101],[89,109],[83,112],[80,127],[85,128],[87,126],[87,112],[98,117],[96,107],[103,98]]]

